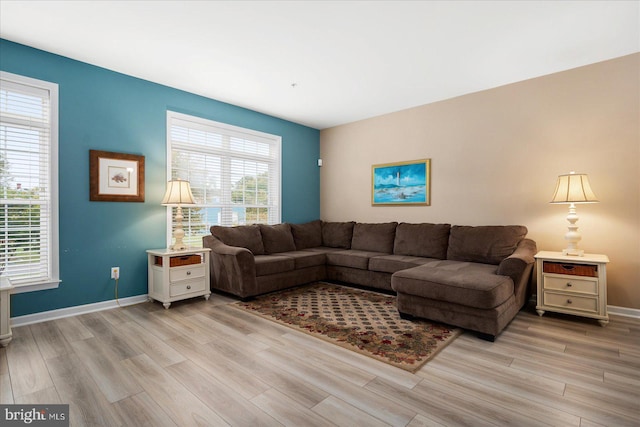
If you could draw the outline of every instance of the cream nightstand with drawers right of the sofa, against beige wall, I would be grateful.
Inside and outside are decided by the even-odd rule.
[[[536,311],[573,314],[609,323],[607,315],[606,255],[567,256],[562,252],[536,254],[538,304]]]

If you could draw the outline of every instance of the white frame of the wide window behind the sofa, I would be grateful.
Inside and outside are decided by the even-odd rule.
[[[247,141],[258,141],[261,143],[269,144],[270,155],[274,156],[277,160],[271,161],[271,168],[269,169],[269,177],[273,179],[273,182],[270,183],[269,187],[269,203],[266,205],[268,207],[269,215],[267,221],[257,221],[269,224],[277,224],[281,222],[282,218],[282,137],[278,135],[272,135],[264,132],[259,132],[253,129],[242,128],[238,126],[229,125],[226,123],[216,122],[213,120],[203,119],[196,116],[191,116],[187,114],[178,113],[175,111],[167,111],[167,181],[170,179],[183,179],[190,181],[190,177],[188,176],[189,172],[187,171],[174,171],[173,163],[173,146],[171,139],[171,128],[173,124],[178,124],[181,127],[186,127],[189,129],[194,129],[198,131],[204,130],[207,133],[222,135],[223,138],[239,138]],[[176,144],[177,145],[177,144]],[[231,151],[226,151],[225,148],[214,147],[211,146],[193,146],[193,149],[187,148],[185,145],[181,145],[179,148],[182,152],[193,152],[193,153],[206,153],[206,155],[210,156],[220,156],[228,159],[228,157],[233,157],[234,160],[256,160],[257,162],[265,162],[266,157],[259,157],[258,154],[252,155],[247,153],[239,154],[231,154]],[[256,156],[256,157],[252,157]],[[233,209],[232,204],[230,202],[231,198],[231,188],[233,182],[229,176],[224,176],[225,172],[229,172],[229,164],[222,161],[221,166],[221,174],[220,174],[220,184],[221,184],[221,199],[222,201],[218,203],[201,203],[199,200],[196,200],[198,206],[203,208],[220,208],[221,209],[221,222],[220,225],[224,226],[232,226],[232,225],[240,225],[244,224],[241,222],[239,224],[233,223],[233,215],[231,214],[231,209]],[[224,172],[222,172],[224,171]],[[194,185],[197,186],[195,182],[192,182],[192,189],[194,189]],[[196,193],[196,191],[194,191]],[[276,194],[272,194],[276,193]],[[198,199],[198,196],[195,196]],[[257,205],[256,205],[257,206]],[[237,206],[240,207],[240,206]],[[246,204],[245,207],[251,208],[254,207],[251,204]],[[260,205],[259,208],[264,208],[264,205]],[[191,237],[190,233],[190,215],[189,208],[183,207],[183,221],[182,226],[185,231],[185,242],[188,242]],[[173,216],[175,215],[175,208],[167,207],[167,247],[172,244],[172,230],[173,230]],[[208,227],[211,226],[212,221],[208,221],[206,224],[208,233]],[[257,223],[251,222],[251,223]],[[193,238],[189,242],[189,246],[192,247],[201,247],[202,239],[194,240]]]

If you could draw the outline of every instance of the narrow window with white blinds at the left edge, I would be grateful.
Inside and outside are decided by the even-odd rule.
[[[0,271],[17,292],[59,282],[58,85],[5,72],[0,72]]]

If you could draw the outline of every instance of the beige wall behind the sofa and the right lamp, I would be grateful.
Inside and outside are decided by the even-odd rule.
[[[640,54],[323,130],[326,221],[523,224],[561,250],[559,174],[589,175],[579,247],[604,253],[608,304],[640,309]],[[371,206],[371,165],[432,159],[431,206]]]

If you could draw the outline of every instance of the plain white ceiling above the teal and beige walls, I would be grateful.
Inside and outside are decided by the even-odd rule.
[[[324,129],[638,52],[639,5],[0,0],[0,37]]]

